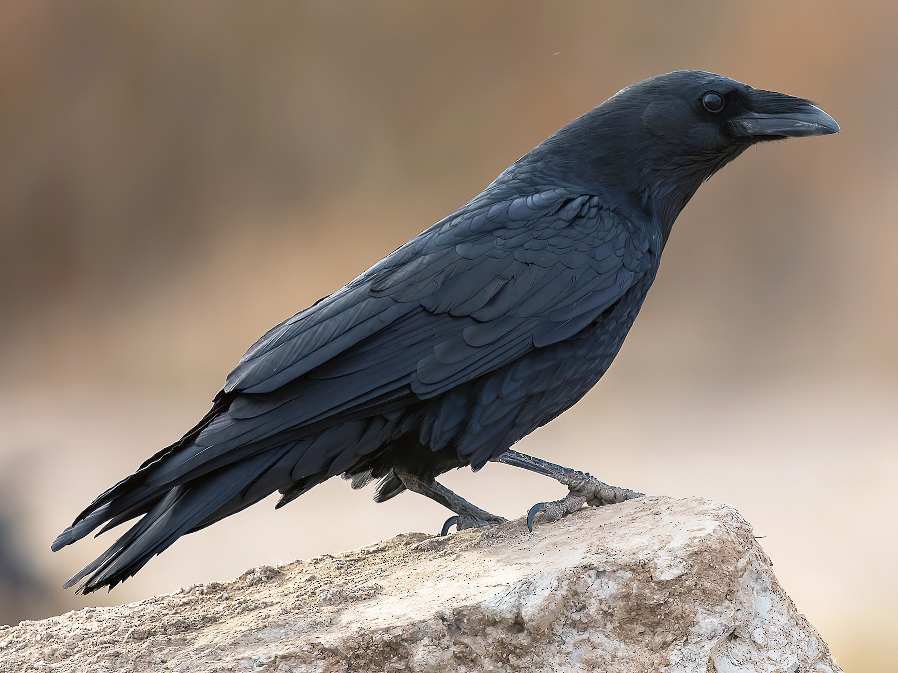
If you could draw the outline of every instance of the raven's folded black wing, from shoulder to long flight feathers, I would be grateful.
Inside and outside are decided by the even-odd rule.
[[[573,337],[655,263],[650,242],[598,197],[472,202],[261,337],[228,376],[230,406],[175,455],[148,461],[147,484],[435,398]],[[383,434],[368,439],[327,455],[310,446],[294,476],[338,474]]]

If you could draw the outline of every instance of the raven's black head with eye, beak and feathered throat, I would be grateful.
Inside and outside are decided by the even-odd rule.
[[[583,179],[629,190],[669,230],[700,184],[750,145],[838,132],[804,98],[681,70],[628,86],[543,145]]]

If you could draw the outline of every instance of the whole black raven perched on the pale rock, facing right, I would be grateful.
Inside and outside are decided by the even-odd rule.
[[[639,494],[510,450],[574,405],[621,348],[671,226],[749,145],[837,133],[811,101],[698,71],[633,84],[480,195],[261,337],[188,433],[91,503],[54,551],[142,517],[66,583],[110,589],[177,538],[335,475],[503,521],[435,477],[487,461],[552,476],[550,520]],[[89,576],[89,577],[88,577]]]

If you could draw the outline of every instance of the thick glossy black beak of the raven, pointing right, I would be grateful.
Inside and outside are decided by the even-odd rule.
[[[730,133],[735,136],[774,140],[839,133],[835,119],[803,98],[754,90],[751,99],[752,109],[729,120]]]

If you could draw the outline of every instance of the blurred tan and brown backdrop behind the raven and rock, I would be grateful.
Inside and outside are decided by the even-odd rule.
[[[898,4],[0,4],[0,623],[339,552],[448,513],[331,480],[111,594],[52,555],[269,327],[623,86],[681,68],[820,101],[700,189],[617,362],[521,450],[734,504],[850,671],[898,625]],[[521,515],[559,485],[445,482]],[[893,646],[885,643],[893,642]]]

